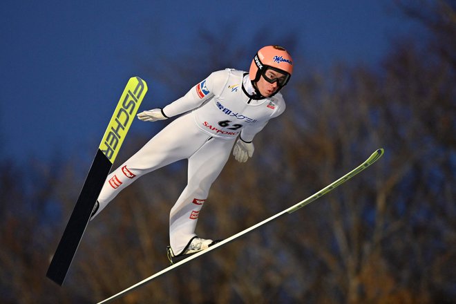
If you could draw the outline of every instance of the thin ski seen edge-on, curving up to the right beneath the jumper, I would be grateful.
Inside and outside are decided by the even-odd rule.
[[[147,283],[150,283],[155,278],[158,278],[159,276],[162,276],[163,274],[166,274],[167,272],[170,272],[171,270],[178,268],[178,267],[184,265],[185,263],[190,262],[191,260],[199,258],[203,254],[207,254],[209,251],[217,249],[218,247],[223,246],[223,245],[231,242],[232,240],[235,240],[236,238],[239,238],[240,236],[243,236],[243,235],[249,233],[250,231],[253,231],[254,229],[257,229],[258,227],[265,225],[267,222],[272,222],[272,220],[276,220],[277,218],[283,216],[286,213],[293,213],[294,211],[301,209],[302,207],[304,207],[306,205],[309,205],[311,202],[313,202],[317,198],[321,198],[321,196],[324,196],[326,193],[332,191],[332,189],[335,189],[336,187],[340,186],[347,180],[350,180],[350,178],[352,178],[354,175],[357,175],[358,173],[360,173],[361,171],[363,171],[364,169],[369,167],[374,162],[377,162],[377,160],[379,160],[379,158],[381,158],[383,153],[384,153],[383,149],[378,149],[377,151],[372,153],[372,155],[370,155],[370,157],[367,160],[365,160],[365,162],[360,164],[358,167],[356,167],[349,173],[343,175],[341,178],[339,178],[339,180],[336,180],[336,181],[332,182],[331,184],[328,184],[326,187],[324,187],[320,191],[316,192],[314,195],[309,196],[308,198],[306,198],[305,200],[302,200],[301,202],[298,202],[296,205],[293,205],[292,207],[289,207],[288,209],[285,209],[284,211],[277,213],[276,215],[271,216],[270,218],[267,218],[266,220],[263,220],[263,222],[258,222],[258,224],[251,226],[243,231],[240,231],[238,234],[234,234],[233,236],[230,236],[229,238],[226,238],[225,240],[222,240],[219,243],[212,245],[208,249],[199,251],[196,254],[193,254],[192,256],[185,258],[184,260],[180,260],[178,263],[175,263],[175,264],[163,269],[162,271],[157,272],[156,274],[153,274],[152,276],[149,276],[149,278],[145,278],[144,280],[140,281],[139,283],[136,283],[135,285],[132,285],[131,287],[129,287],[127,289],[124,289],[122,292],[119,292],[109,298],[106,298],[105,300],[99,302],[98,304],[108,303],[110,301],[115,300],[116,298],[120,298],[121,296],[128,294],[129,292],[133,292],[133,290],[135,290],[143,285],[146,285]]]

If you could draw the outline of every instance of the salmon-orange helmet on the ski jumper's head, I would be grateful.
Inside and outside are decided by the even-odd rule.
[[[276,70],[285,75],[282,79],[265,79],[269,82],[271,80],[277,81],[278,86],[285,86],[289,77],[293,73],[293,59],[287,50],[281,46],[265,46],[256,53],[254,59],[251,61],[249,77],[252,82],[258,82],[261,75],[265,75],[268,69]]]

